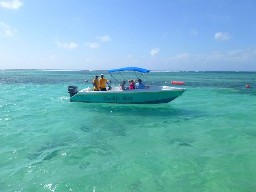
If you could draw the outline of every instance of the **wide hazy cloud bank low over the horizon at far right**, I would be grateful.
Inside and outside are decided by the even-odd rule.
[[[173,70],[252,70],[255,68],[256,48],[210,52],[207,54],[182,53],[169,57],[165,64]]]

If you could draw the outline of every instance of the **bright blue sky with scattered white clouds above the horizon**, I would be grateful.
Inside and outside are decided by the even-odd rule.
[[[256,1],[0,0],[0,69],[256,71]]]

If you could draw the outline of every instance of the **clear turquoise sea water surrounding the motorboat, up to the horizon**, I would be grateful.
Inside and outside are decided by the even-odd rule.
[[[255,72],[150,72],[185,82],[168,104],[69,102],[91,80],[0,70],[0,191],[256,190]]]

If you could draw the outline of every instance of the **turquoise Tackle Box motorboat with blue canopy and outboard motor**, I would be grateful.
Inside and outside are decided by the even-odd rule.
[[[125,67],[120,69],[108,70],[111,78],[113,72],[120,73],[121,71],[137,71],[142,75],[142,78],[149,73],[150,70],[138,67]],[[120,82],[116,80],[119,84]],[[186,91],[185,88],[169,87],[169,86],[150,86],[144,89],[126,89],[122,90],[119,87],[109,86],[108,91],[93,91],[93,88],[88,87],[78,91],[76,85],[69,85],[68,93],[70,94],[71,102],[86,102],[86,103],[118,103],[118,104],[158,104],[168,103]]]

